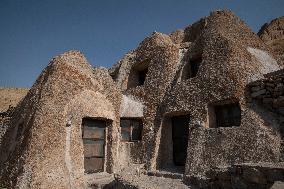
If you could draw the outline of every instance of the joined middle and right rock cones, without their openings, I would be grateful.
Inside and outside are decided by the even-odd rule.
[[[183,70],[193,58],[202,58],[199,71],[196,77],[184,79]],[[172,116],[185,114],[190,114],[192,128],[186,175],[204,174],[217,165],[279,160],[280,137],[247,104],[245,89],[280,66],[263,41],[231,12],[213,12],[170,35],[154,32],[119,65],[111,70],[117,85],[145,105],[142,144],[132,147],[141,146],[143,151],[133,156],[141,156],[151,169],[173,164],[167,128]],[[135,68],[142,65],[148,65],[145,83],[133,87]],[[208,128],[208,107],[226,100],[240,103],[241,126]],[[202,127],[196,128],[195,123]]]

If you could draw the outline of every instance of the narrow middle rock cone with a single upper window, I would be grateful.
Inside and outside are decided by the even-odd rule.
[[[132,157],[139,156],[143,163],[150,164],[150,158],[155,153],[156,137],[154,122],[157,107],[164,97],[171,80],[175,75],[178,63],[178,46],[166,34],[154,32],[143,40],[137,49],[126,54],[114,66],[111,75],[126,96],[132,96],[143,104],[143,137],[141,143],[133,152]],[[132,70],[147,62],[148,73],[144,85],[129,87],[132,82]],[[134,73],[135,74],[135,73]],[[136,146],[136,145],[134,145]],[[126,148],[128,150],[133,149]],[[124,152],[124,151],[122,151]]]

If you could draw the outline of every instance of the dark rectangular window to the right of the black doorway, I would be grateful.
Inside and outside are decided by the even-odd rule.
[[[213,112],[212,112],[213,111]],[[238,102],[213,105],[210,127],[232,127],[241,125],[241,108]]]

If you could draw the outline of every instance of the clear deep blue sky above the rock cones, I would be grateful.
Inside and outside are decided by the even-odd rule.
[[[216,9],[257,32],[284,15],[284,0],[0,0],[0,86],[31,87],[53,56],[71,49],[111,67],[153,31],[170,33]]]

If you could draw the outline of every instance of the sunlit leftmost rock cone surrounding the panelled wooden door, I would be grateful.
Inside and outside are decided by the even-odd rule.
[[[106,160],[117,155],[121,95],[107,70],[78,51],[55,57],[14,111],[0,149],[1,184],[8,188],[84,188],[81,122],[113,120]],[[71,121],[72,125],[66,127]]]

